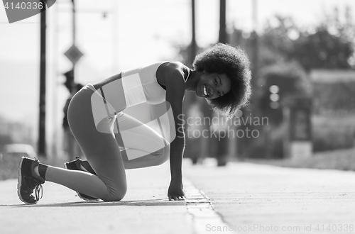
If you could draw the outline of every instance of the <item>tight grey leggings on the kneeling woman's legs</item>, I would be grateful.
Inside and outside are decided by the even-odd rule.
[[[68,122],[89,165],[97,175],[49,166],[45,179],[104,201],[119,201],[124,198],[127,190],[125,169],[163,164],[169,158],[170,145],[148,126],[139,128],[139,131],[134,128],[125,130],[124,135],[114,133],[113,130],[111,134],[100,133],[94,124],[91,104],[94,91],[89,85],[73,96],[68,108]],[[136,118],[123,112],[118,113],[114,121],[125,129],[140,125]],[[112,120],[100,124],[111,128]],[[162,145],[164,141],[165,144]],[[160,150],[152,152],[152,148]],[[128,153],[144,156],[129,160],[124,156]]]

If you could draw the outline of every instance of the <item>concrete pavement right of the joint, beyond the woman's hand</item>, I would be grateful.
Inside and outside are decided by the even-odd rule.
[[[184,174],[238,233],[355,233],[355,172],[214,160]],[[221,231],[219,231],[221,233]]]

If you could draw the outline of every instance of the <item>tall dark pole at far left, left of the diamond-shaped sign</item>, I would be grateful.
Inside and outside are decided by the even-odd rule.
[[[45,7],[45,1],[41,0]],[[45,10],[40,13],[40,105],[39,105],[39,134],[38,155],[46,157],[45,153]]]

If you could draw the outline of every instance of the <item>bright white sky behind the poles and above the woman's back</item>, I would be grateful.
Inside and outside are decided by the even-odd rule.
[[[122,69],[160,60],[178,60],[174,45],[191,40],[190,0],[76,0],[76,44],[84,56],[77,63],[76,81],[105,79]],[[253,1],[227,0],[228,28],[253,29]],[[353,0],[257,0],[256,29],[276,13],[293,16],[300,26],[322,20],[322,12],[351,6]],[[62,73],[72,64],[64,56],[72,45],[72,4],[57,1],[47,11],[48,138],[59,130],[68,93]],[[104,15],[106,17],[104,17]],[[38,122],[40,17],[9,24],[0,6],[0,116],[34,129]],[[217,43],[219,1],[196,0],[197,44]]]

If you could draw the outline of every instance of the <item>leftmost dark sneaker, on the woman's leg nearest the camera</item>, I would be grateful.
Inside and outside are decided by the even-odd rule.
[[[42,198],[42,184],[45,180],[34,173],[33,169],[39,165],[40,161],[29,157],[21,157],[18,165],[17,194],[21,201],[26,204],[37,204]],[[33,190],[35,191],[33,196]]]

